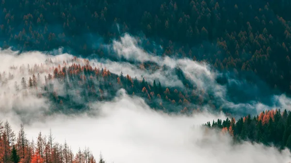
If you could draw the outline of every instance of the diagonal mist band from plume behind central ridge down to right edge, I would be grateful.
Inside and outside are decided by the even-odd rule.
[[[215,100],[217,106],[226,108],[229,112],[237,112],[238,115],[258,114],[261,111],[272,108],[290,110],[289,107],[286,107],[286,102],[291,100],[284,94],[272,94],[272,91],[266,94],[266,89],[269,90],[268,86],[259,79],[258,84],[263,84],[263,89],[263,86],[258,88],[256,84],[250,84],[243,79],[229,75],[230,72],[221,73],[204,61],[198,62],[188,58],[162,57],[146,51],[140,44],[141,40],[139,38],[126,33],[119,41],[114,40],[111,45],[116,53],[116,58],[122,61],[114,62],[107,59],[104,63],[114,65],[112,66],[113,70],[114,67],[118,67],[114,72],[122,70],[124,74],[131,76],[141,76],[140,74],[143,74],[143,77],[146,77],[149,82],[153,82],[156,79],[166,87],[186,89],[185,80],[187,80],[189,81],[187,84],[190,84],[190,87],[195,89],[196,92],[201,91],[202,94],[207,92],[209,95],[214,96],[212,100]],[[157,67],[159,68],[141,69],[136,66],[145,62],[158,65]],[[181,70],[184,78],[178,76],[177,69]],[[226,82],[220,84],[217,81],[218,78],[226,78]],[[245,87],[248,88],[246,89]],[[260,101],[257,98],[267,100]]]

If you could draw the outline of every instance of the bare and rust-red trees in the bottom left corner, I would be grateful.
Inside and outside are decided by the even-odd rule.
[[[29,141],[23,125],[15,133],[8,121],[0,121],[0,163],[97,163],[89,148],[73,154],[65,142],[54,142],[50,132],[48,136],[41,132],[36,141]],[[98,163],[105,163],[102,155]]]

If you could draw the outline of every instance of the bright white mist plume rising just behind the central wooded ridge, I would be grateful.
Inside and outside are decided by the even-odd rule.
[[[161,68],[158,71],[152,73],[150,70],[138,69],[129,63],[122,63],[122,71],[124,74],[131,74],[133,76],[136,75],[137,77],[140,76],[139,74],[145,74],[147,80],[149,81],[159,79],[165,86],[178,86],[183,88],[182,81],[179,80],[177,74],[175,73],[175,69],[180,68],[186,77],[191,82],[193,82],[193,84],[195,84],[198,89],[214,89],[212,91],[216,92],[218,96],[223,96],[225,94],[225,89],[223,86],[218,85],[215,81],[217,72],[211,70],[207,63],[197,62],[186,58],[176,59],[167,56],[156,56],[146,52],[143,48],[139,47],[138,43],[138,39],[131,37],[129,34],[125,34],[123,37],[121,37],[120,41],[113,41],[112,46],[113,50],[116,52],[119,58],[123,57],[128,61],[138,61],[142,63],[150,61],[158,64],[159,67],[165,68]],[[120,65],[120,62],[117,64]]]

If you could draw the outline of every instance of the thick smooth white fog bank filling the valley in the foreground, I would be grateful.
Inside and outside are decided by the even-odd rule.
[[[98,116],[91,116],[97,113]],[[108,163],[288,163],[289,150],[261,144],[233,144],[228,135],[206,130],[201,124],[223,114],[203,112],[193,116],[156,112],[144,100],[124,90],[112,102],[92,105],[90,114],[59,115],[45,123],[25,126],[28,137],[52,129],[55,141],[67,141],[72,149],[87,145]],[[35,137],[34,137],[35,138]]]

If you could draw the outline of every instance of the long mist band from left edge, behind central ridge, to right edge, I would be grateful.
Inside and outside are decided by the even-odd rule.
[[[129,74],[131,77],[137,77],[141,80],[145,77],[146,81],[153,83],[154,80],[161,81],[162,85],[165,87],[177,87],[181,91],[184,89],[188,90],[188,94],[195,93],[202,96],[205,100],[210,100],[209,96],[212,96],[211,101],[214,101],[216,107],[220,109],[226,109],[227,112],[235,113],[234,115],[245,116],[250,113],[252,115],[258,114],[259,112],[272,109],[275,107],[288,109],[288,101],[291,101],[285,95],[270,95],[271,104],[265,104],[263,102],[257,101],[255,99],[250,99],[243,102],[235,102],[232,98],[236,98],[240,92],[235,92],[235,90],[240,90],[245,82],[239,79],[230,78],[226,76],[226,84],[220,84],[217,82],[217,78],[223,76],[222,73],[216,71],[206,62],[198,62],[190,60],[187,58],[170,58],[161,57],[150,52],[146,52],[142,47],[139,46],[139,40],[125,34],[121,37],[120,41],[113,41],[113,44],[108,45],[108,47],[113,49],[115,57],[118,59],[123,59],[122,61],[113,61],[110,59],[90,59],[91,64],[97,66],[97,68],[106,68],[114,74],[120,74],[121,71],[124,75]],[[51,55],[53,53],[53,55]],[[21,87],[21,78],[24,77],[26,80],[29,79],[32,74],[40,75],[40,83],[44,83],[44,76],[49,73],[53,73],[54,67],[58,65],[65,66],[72,63],[85,65],[88,60],[78,58],[72,60],[73,56],[69,54],[63,54],[62,49],[54,50],[52,52],[26,52],[18,54],[17,51],[12,51],[11,49],[0,50],[0,59],[3,60],[3,64],[0,65],[0,71],[2,73],[0,90],[0,99],[3,103],[0,104],[0,109],[8,114],[9,110],[14,110],[9,114],[13,113],[15,115],[30,115],[30,110],[39,112],[33,112],[35,114],[33,117],[41,117],[41,114],[48,112],[48,99],[39,98],[37,94],[42,93],[41,89],[24,91],[16,91],[16,83],[18,87]],[[124,60],[125,59],[125,60]],[[143,65],[149,62],[148,67]],[[5,72],[3,74],[3,72]],[[180,73],[179,73],[180,72]],[[10,73],[10,74],[9,74]],[[180,77],[178,74],[182,74],[184,77]],[[13,77],[10,77],[13,75]],[[185,81],[187,81],[185,84]],[[190,89],[186,85],[190,85]],[[228,85],[231,85],[229,87]],[[61,86],[61,85],[59,85]],[[229,90],[235,92],[236,94],[229,94]],[[57,87],[55,87],[57,89]],[[58,93],[62,95],[62,87],[58,89]],[[242,89],[244,91],[244,89]],[[252,91],[252,90],[250,90]],[[260,91],[259,89],[257,91]],[[207,95],[205,95],[205,92]],[[29,95],[27,95],[27,93]],[[74,91],[71,94],[75,94]],[[248,96],[251,94],[247,92],[244,94]],[[231,98],[229,98],[231,96]],[[232,97],[233,96],[233,97]],[[76,99],[76,102],[80,99]],[[81,101],[80,101],[81,103]],[[209,109],[208,104],[203,106],[194,107]],[[7,111],[8,110],[8,111]],[[36,114],[37,113],[37,114]],[[22,118],[25,119],[25,118]]]

